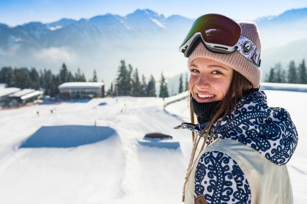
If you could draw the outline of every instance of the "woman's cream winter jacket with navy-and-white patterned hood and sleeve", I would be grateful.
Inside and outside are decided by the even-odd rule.
[[[187,128],[198,136],[207,123],[181,123],[174,128]],[[251,93],[226,115],[213,137],[196,158],[185,204],[193,204],[201,195],[208,204],[293,203],[285,164],[298,135],[288,111],[268,107],[263,91]]]

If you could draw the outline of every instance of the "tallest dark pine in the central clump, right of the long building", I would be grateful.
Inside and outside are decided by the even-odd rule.
[[[116,78],[116,93],[118,96],[128,96],[130,89],[128,83],[130,82],[128,70],[126,68],[125,60],[120,61],[121,65],[118,70],[118,77]]]

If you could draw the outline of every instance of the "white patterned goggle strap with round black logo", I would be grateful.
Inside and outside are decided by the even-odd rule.
[[[260,53],[258,52],[256,45],[251,40],[241,35],[235,48],[249,61],[260,67]]]

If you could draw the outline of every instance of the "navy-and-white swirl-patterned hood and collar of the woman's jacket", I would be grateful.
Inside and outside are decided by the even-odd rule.
[[[213,123],[210,133],[221,119]],[[198,136],[207,124],[181,123],[174,129],[187,128]],[[266,94],[260,90],[240,100],[223,119],[213,137],[242,142],[277,165],[284,165],[290,160],[298,140],[289,112],[280,107],[268,107]]]

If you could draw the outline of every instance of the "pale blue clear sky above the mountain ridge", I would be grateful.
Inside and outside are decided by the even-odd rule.
[[[61,18],[80,20],[106,13],[126,16],[136,9],[150,9],[165,17],[179,14],[195,19],[206,13],[220,13],[236,21],[253,20],[258,17],[279,15],[286,10],[307,7],[306,0],[296,1],[182,1],[182,0],[0,0],[0,23],[11,27],[31,21],[51,23]]]

